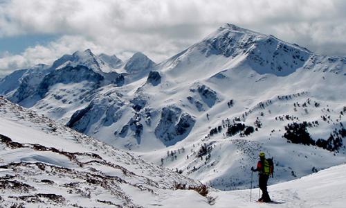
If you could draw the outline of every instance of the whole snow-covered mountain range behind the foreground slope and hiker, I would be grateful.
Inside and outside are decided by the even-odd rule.
[[[219,189],[248,187],[260,150],[274,157],[274,182],[345,161],[345,57],[232,24],[160,64],[74,54],[44,71],[35,93],[19,88],[21,71],[0,92]]]

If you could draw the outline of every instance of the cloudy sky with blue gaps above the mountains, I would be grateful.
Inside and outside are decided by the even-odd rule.
[[[0,0],[0,76],[91,49],[175,55],[226,22],[346,56],[343,0]]]

